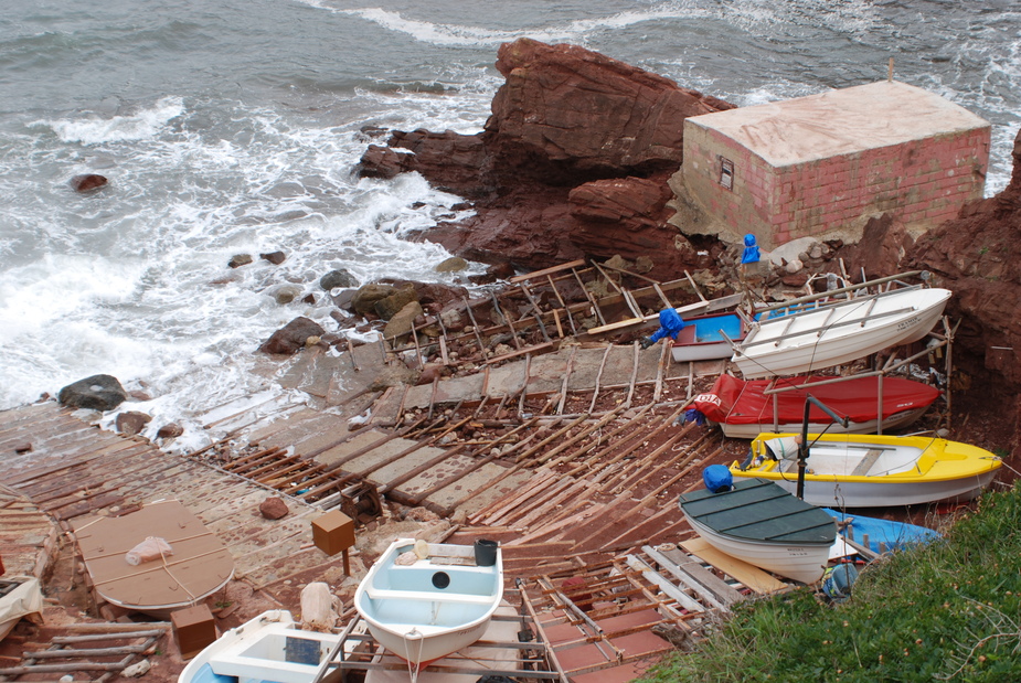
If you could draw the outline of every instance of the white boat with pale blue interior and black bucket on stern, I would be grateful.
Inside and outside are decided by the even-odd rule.
[[[354,607],[369,632],[418,665],[481,638],[503,598],[503,559],[477,563],[469,545],[394,541],[358,586]]]

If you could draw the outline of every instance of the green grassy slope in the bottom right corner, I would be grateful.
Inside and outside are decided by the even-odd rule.
[[[749,601],[701,645],[642,681],[1021,681],[1021,488],[873,563],[842,605]]]

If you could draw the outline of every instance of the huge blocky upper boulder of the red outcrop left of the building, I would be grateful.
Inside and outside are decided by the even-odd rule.
[[[732,108],[577,45],[520,39],[500,46],[497,68],[507,83],[486,132],[504,168],[540,161],[603,177],[677,170],[684,119]],[[572,184],[571,175],[547,178]]]

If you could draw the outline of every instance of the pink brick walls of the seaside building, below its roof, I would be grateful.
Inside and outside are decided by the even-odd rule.
[[[715,130],[687,126],[684,182],[706,210],[766,248],[833,230],[854,233],[892,213],[929,228],[981,199],[988,127],[773,168]],[[733,188],[719,182],[720,157],[734,162]]]

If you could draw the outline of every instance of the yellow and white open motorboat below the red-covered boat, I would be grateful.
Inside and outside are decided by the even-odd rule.
[[[734,477],[775,481],[791,493],[798,484],[800,435],[761,434]],[[832,508],[882,508],[977,498],[1002,462],[959,441],[922,436],[808,435],[805,501]]]

